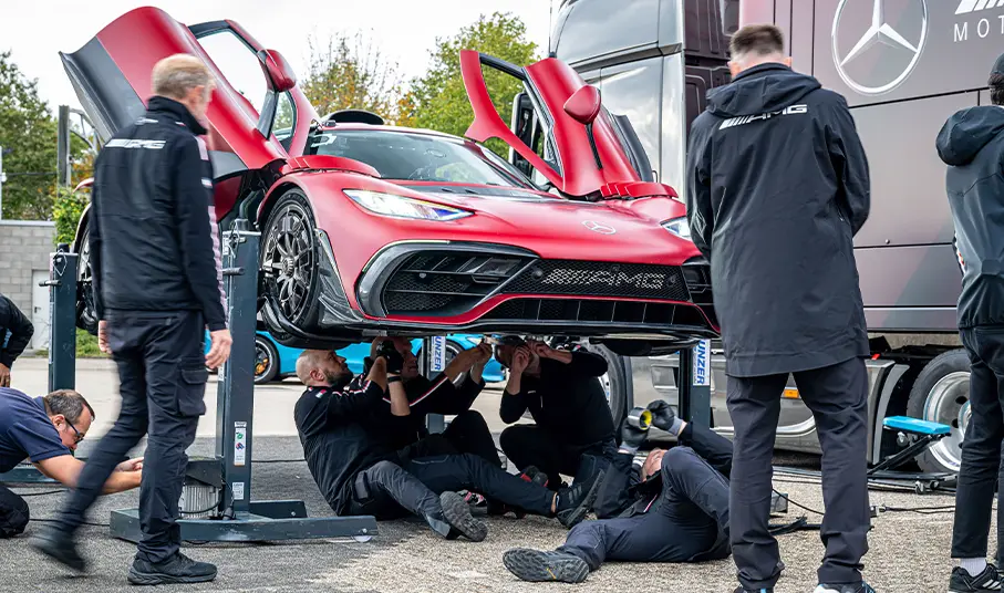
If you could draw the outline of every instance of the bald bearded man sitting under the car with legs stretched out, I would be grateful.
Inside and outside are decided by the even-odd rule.
[[[310,472],[337,514],[395,519],[411,512],[444,538],[482,541],[487,526],[456,492],[466,489],[557,517],[569,528],[582,520],[601,470],[589,468],[583,472],[588,479],[555,493],[472,454],[402,457],[387,438],[394,434],[393,423],[411,413],[402,365],[394,348],[382,350],[365,383],[352,388],[352,373],[334,352],[304,351],[297,361],[297,376],[307,385],[296,406],[297,431]]]

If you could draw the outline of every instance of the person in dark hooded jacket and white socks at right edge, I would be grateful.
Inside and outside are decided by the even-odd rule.
[[[972,417],[962,444],[952,535],[952,558],[960,565],[952,571],[952,593],[1001,590],[996,566],[986,562],[986,540],[1004,440],[1004,55],[990,74],[990,100],[993,105],[949,117],[936,142],[938,155],[949,165],[945,186],[963,272],[959,332],[972,363]],[[997,541],[1004,541],[1004,521],[997,522]]]

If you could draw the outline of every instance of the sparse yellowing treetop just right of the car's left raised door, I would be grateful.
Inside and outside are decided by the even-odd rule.
[[[387,61],[362,33],[337,34],[328,44],[313,38],[310,69],[301,85],[307,98],[324,116],[339,110],[366,110],[393,121],[404,96],[397,64]]]

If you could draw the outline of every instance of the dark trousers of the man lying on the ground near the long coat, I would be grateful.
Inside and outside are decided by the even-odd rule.
[[[727,556],[728,481],[706,459],[729,455],[732,444],[710,429],[692,428],[693,448],[673,447],[663,456],[662,492],[650,510],[583,521],[558,550],[581,558],[590,570],[605,560],[691,562]]]

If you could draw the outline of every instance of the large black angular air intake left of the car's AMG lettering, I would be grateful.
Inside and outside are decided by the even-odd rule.
[[[422,251],[407,257],[383,289],[389,314],[463,313],[517,273],[527,258],[460,251]]]

